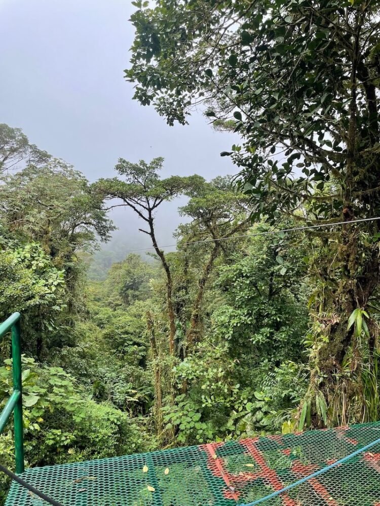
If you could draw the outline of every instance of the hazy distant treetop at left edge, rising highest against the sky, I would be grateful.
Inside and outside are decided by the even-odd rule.
[[[19,128],[0,123],[0,173],[19,168],[19,164],[42,165],[51,156],[34,144]]]

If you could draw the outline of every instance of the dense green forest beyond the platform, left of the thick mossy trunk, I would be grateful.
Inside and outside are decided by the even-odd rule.
[[[3,178],[0,313],[22,313],[28,465],[294,426],[307,389],[306,238],[240,237],[265,230],[251,227],[244,195],[226,178],[161,179],[162,163],[121,160],[126,181],[91,187],[57,160]],[[178,194],[186,223],[166,253],[153,213]],[[112,230],[103,198],[115,196],[144,217],[154,255],[90,281],[89,255]]]

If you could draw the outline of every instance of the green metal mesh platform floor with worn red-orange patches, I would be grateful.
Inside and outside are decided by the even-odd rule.
[[[233,506],[280,490],[380,438],[380,422],[140,453],[22,475],[63,506]],[[46,506],[13,483],[6,506]],[[380,444],[264,506],[380,506]]]

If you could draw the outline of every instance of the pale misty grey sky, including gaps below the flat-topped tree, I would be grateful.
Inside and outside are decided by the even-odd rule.
[[[165,158],[163,175],[234,174],[220,151],[235,142],[204,116],[170,127],[152,107],[132,100],[124,80],[133,26],[130,0],[0,0],[0,122],[72,163],[93,181],[113,176],[119,157]],[[172,243],[177,203],[160,209],[162,244]],[[128,214],[126,214],[128,213]],[[120,228],[108,248],[150,245],[129,210],[115,210]]]

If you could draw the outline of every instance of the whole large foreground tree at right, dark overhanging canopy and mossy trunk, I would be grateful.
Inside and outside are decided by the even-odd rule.
[[[276,223],[297,209],[308,223],[379,216],[378,2],[137,5],[126,71],[135,98],[170,124],[205,101],[218,128],[241,134],[243,145],[222,155],[241,167],[254,218]],[[375,370],[377,234],[376,221],[334,228],[318,234],[321,257],[310,256],[317,292],[310,394],[322,392],[333,423],[368,416],[362,372]]]

